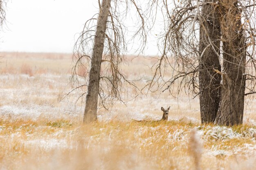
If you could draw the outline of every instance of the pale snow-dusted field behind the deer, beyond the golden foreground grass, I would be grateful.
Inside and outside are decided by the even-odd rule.
[[[30,118],[77,118],[82,119],[84,103],[76,101],[81,91],[70,92],[74,86],[70,83],[72,55],[70,54],[36,54],[36,53],[3,53],[0,65],[0,115],[2,117]],[[130,79],[150,77],[152,61],[135,58],[135,61],[124,66],[123,72]],[[2,69],[2,70],[1,70]],[[148,75],[145,75],[148,74]],[[143,81],[139,86],[144,86]],[[129,94],[128,94],[129,95]],[[129,97],[128,97],[129,98]],[[118,119],[161,119],[161,107],[168,108],[169,120],[186,119],[200,123],[198,98],[192,99],[181,91],[173,97],[165,91],[139,95],[125,104],[116,102],[108,110],[99,109],[101,121]],[[244,123],[256,125],[256,102],[246,99]]]

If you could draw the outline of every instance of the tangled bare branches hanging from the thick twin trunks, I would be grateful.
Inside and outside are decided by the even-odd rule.
[[[253,74],[255,72],[256,60],[255,60],[255,1],[254,0],[243,0],[237,1],[238,8],[242,11],[240,18],[242,18],[242,26],[245,30],[245,35],[247,35],[247,69],[248,74]],[[162,2],[162,13],[164,16],[165,27],[162,35],[158,41],[159,51],[162,53],[159,56],[159,60],[154,69],[154,75],[151,82],[147,84],[149,89],[161,89],[166,91],[166,88],[171,88],[169,84],[174,77],[177,77],[179,73],[188,73],[187,76],[191,76],[189,73],[195,71],[200,61],[199,54],[199,27],[202,26],[205,32],[208,28],[202,23],[207,23],[213,25],[216,23],[211,23],[211,20],[202,16],[200,11],[204,7],[213,7],[213,9],[218,10],[220,3],[218,1],[199,1],[199,0],[186,0],[185,2],[173,1],[168,4],[167,1]],[[216,41],[225,41],[223,38],[217,38],[212,40],[209,35],[205,35],[207,40],[207,46],[204,51],[207,51],[210,47],[213,52],[218,55],[220,62],[223,62],[223,52],[220,47],[216,46]],[[229,62],[229,61],[227,61]],[[168,66],[168,67],[167,67]],[[253,66],[254,68],[252,68]],[[166,76],[163,73],[166,72],[166,68],[172,70],[172,74]],[[196,74],[195,74],[196,75]],[[190,77],[195,78],[197,77]],[[189,78],[189,79],[190,79]],[[169,84],[168,79],[171,81]],[[175,79],[178,81],[178,79]],[[251,79],[252,80],[252,79]],[[248,79],[249,81],[249,79]],[[185,83],[185,82],[184,82]],[[166,86],[163,86],[166,84]],[[251,89],[254,88],[252,82]],[[189,84],[188,87],[192,87]],[[198,84],[193,84],[193,86],[198,86]],[[195,88],[192,88],[192,91]],[[195,95],[198,95],[197,91],[193,91]]]

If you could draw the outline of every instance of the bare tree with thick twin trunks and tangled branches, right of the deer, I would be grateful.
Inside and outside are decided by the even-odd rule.
[[[254,0],[163,1],[162,56],[148,88],[173,93],[177,82],[178,92],[184,85],[200,96],[202,123],[241,124],[244,97],[256,93],[255,5]],[[171,77],[165,76],[168,66]]]

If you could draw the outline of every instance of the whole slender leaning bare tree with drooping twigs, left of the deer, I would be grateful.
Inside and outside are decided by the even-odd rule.
[[[124,103],[122,94],[128,91],[128,86],[134,92],[138,90],[135,83],[128,80],[120,69],[125,62],[125,35],[129,32],[125,25],[126,16],[130,10],[137,13],[134,27],[137,30],[132,29],[134,34],[131,39],[140,41],[141,45],[137,48],[139,51],[145,47],[146,29],[149,26],[144,21],[146,15],[135,0],[102,0],[99,9],[99,14],[85,23],[74,48],[72,80],[76,86],[74,90],[83,90],[79,98],[86,94],[84,123],[97,120],[98,106],[107,109],[108,104],[116,100]],[[148,9],[145,13],[150,16],[150,12]]]

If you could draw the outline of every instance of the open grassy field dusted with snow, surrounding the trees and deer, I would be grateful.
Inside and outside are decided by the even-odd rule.
[[[234,127],[201,125],[198,99],[184,92],[117,102],[83,125],[80,92],[65,97],[74,88],[71,54],[0,56],[0,170],[255,170],[254,101]],[[128,58],[123,71],[146,80],[154,62]],[[168,121],[151,121],[168,106]]]

